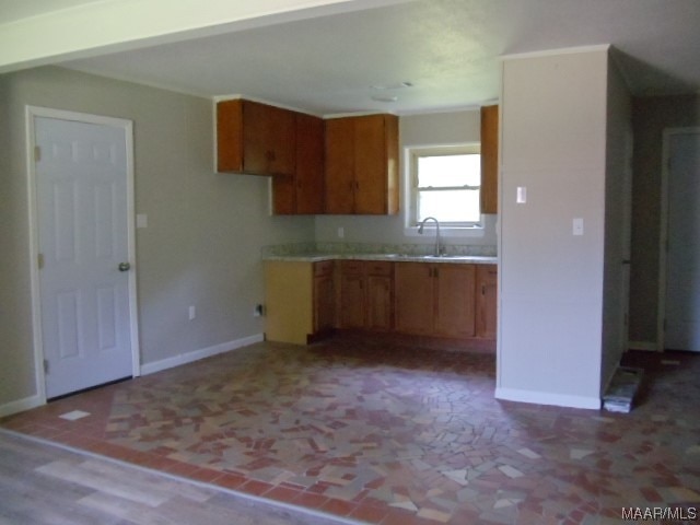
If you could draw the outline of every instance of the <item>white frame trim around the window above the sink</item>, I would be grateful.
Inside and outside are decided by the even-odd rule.
[[[418,236],[418,158],[427,155],[446,155],[446,154],[474,154],[481,151],[480,142],[464,142],[457,144],[431,144],[431,145],[412,145],[405,148],[404,151],[404,202],[405,207],[405,228],[404,233],[407,236]],[[481,187],[479,185],[479,191]],[[434,223],[430,221],[425,228],[434,228]],[[441,223],[440,234],[442,236],[452,237],[481,237],[485,234],[483,213],[480,213],[478,222],[452,222]]]

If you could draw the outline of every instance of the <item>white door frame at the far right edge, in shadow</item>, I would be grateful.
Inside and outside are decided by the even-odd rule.
[[[658,311],[656,312],[656,351],[663,352],[665,346],[664,320],[666,317],[666,273],[668,243],[668,179],[670,178],[670,140],[677,135],[700,135],[699,127],[666,128],[662,144],[661,168],[661,230],[658,235]]]

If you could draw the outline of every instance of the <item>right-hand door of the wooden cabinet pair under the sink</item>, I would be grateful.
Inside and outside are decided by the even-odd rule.
[[[450,337],[474,337],[475,267],[474,265],[434,265],[435,334]]]

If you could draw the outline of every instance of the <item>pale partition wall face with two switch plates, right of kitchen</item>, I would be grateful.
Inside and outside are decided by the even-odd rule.
[[[605,49],[503,62],[497,397],[599,406],[607,82]]]

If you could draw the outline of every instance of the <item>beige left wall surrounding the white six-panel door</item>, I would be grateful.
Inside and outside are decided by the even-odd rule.
[[[42,68],[0,77],[0,409],[36,395],[25,105],[131,119],[142,364],[262,332],[260,248],[311,242],[313,218],[268,214],[268,180],[212,170],[211,102]],[[188,320],[187,308],[197,307]]]

